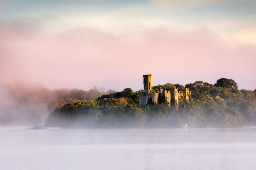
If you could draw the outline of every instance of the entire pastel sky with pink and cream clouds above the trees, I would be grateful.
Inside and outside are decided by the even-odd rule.
[[[256,89],[255,0],[0,0],[0,84]]]

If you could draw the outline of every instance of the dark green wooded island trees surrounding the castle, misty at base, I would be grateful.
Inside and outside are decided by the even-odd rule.
[[[189,88],[189,101],[180,96],[176,104],[139,106],[139,91],[126,88],[121,92],[102,95],[89,102],[66,104],[54,110],[46,126],[66,128],[168,128],[188,124],[194,128],[242,127],[256,122],[256,100],[252,90],[239,90],[232,79],[222,78],[215,84],[203,81],[186,84],[166,83],[156,89]],[[124,105],[126,106],[124,107]]]

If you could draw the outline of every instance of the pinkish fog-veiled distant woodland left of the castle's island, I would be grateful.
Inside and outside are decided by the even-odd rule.
[[[90,101],[115,90],[50,90],[39,83],[14,82],[0,85],[0,126],[44,125],[49,113],[67,103]]]

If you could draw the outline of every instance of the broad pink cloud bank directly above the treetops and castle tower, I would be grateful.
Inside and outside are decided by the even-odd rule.
[[[255,46],[229,45],[206,29],[180,33],[159,29],[139,38],[82,28],[52,36],[0,29],[0,36],[2,83],[25,79],[51,89],[88,90],[96,85],[138,90],[143,88],[142,75],[152,74],[153,85],[215,83],[226,77],[234,79],[239,89],[256,88]]]

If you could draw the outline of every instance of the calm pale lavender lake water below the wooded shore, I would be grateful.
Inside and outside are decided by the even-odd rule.
[[[256,169],[256,128],[0,128],[3,170]]]

